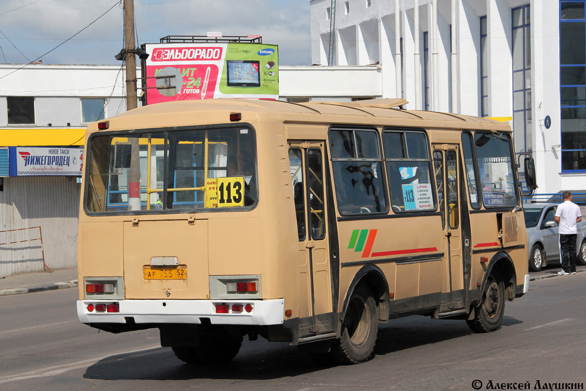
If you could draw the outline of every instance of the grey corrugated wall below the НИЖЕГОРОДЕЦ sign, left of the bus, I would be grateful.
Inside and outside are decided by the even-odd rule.
[[[11,274],[67,268],[77,261],[81,184],[68,176],[12,176],[0,192],[0,278]],[[6,230],[38,227],[39,229]]]

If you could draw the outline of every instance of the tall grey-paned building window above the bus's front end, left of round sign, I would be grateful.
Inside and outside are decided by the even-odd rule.
[[[531,115],[531,26],[529,4],[513,8],[513,131],[515,151],[530,152]]]

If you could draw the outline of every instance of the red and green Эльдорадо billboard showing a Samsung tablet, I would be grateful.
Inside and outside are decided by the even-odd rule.
[[[147,43],[145,49],[147,104],[279,97],[277,45]]]

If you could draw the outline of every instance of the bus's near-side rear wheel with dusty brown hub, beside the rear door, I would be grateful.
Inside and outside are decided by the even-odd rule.
[[[378,319],[370,289],[358,285],[346,309],[340,339],[332,344],[332,356],[339,363],[357,364],[373,357]]]

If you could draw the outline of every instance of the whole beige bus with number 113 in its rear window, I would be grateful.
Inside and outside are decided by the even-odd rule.
[[[159,328],[189,363],[258,335],[360,363],[407,315],[498,329],[529,288],[510,128],[405,103],[178,101],[90,124],[80,321]]]

